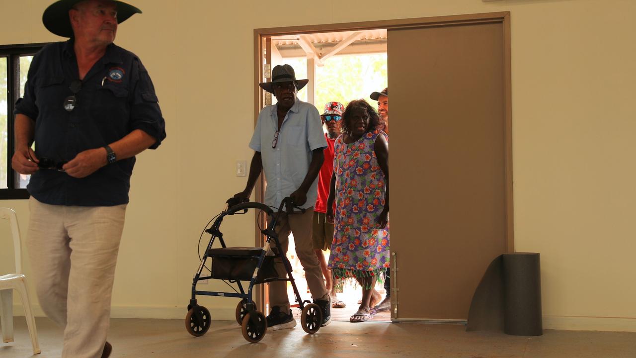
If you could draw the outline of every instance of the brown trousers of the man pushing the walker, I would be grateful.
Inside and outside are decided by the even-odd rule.
[[[282,219],[276,226],[276,233],[279,235],[280,245],[283,254],[287,254],[289,247],[289,232],[294,234],[294,243],[296,244],[296,255],[300,264],[305,270],[305,278],[307,279],[307,287],[312,293],[314,299],[329,300],[329,294],[322,280],[322,271],[320,262],[314,254],[314,245],[312,243],[312,218],[314,217],[314,208],[309,208],[303,214],[283,215]],[[270,247],[276,247],[275,243],[270,241]],[[275,259],[276,271],[282,276],[285,266],[282,260]],[[298,280],[298,277],[294,277]],[[289,311],[289,297],[287,296],[287,282],[274,281],[270,282],[270,307],[279,306],[281,311]],[[302,297],[302,292],[301,292]],[[305,297],[302,297],[305,299]]]

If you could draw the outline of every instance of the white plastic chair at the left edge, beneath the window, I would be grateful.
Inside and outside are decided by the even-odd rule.
[[[15,272],[0,276],[0,323],[2,324],[2,338],[4,343],[13,341],[13,290],[20,292],[24,316],[27,319],[31,343],[33,343],[33,354],[39,354],[41,350],[38,344],[38,333],[36,331],[36,321],[31,310],[31,301],[27,293],[27,283],[22,275],[22,246],[20,243],[20,228],[18,227],[18,217],[15,211],[10,208],[0,207],[0,218],[9,220],[11,234],[13,236],[13,250],[15,251]]]

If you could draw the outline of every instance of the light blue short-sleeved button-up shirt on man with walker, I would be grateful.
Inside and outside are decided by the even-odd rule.
[[[327,147],[327,141],[318,110],[312,104],[296,98],[280,126],[276,148],[272,148],[278,129],[276,110],[277,104],[261,110],[249,147],[261,152],[267,180],[265,204],[278,208],[282,199],[296,191],[305,180],[312,161],[312,150]],[[307,203],[303,208],[314,206],[317,186],[316,177],[307,191]]]

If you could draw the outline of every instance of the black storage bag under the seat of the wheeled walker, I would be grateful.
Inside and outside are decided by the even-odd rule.
[[[207,253],[212,257],[212,278],[219,280],[249,281],[258,265],[262,247],[225,247],[211,248]],[[258,270],[256,282],[265,278],[278,277],[274,268],[274,257],[265,256]]]

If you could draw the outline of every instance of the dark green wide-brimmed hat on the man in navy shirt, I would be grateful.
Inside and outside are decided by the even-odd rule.
[[[73,27],[69,19],[69,10],[74,4],[81,3],[83,0],[59,0],[50,4],[42,14],[42,22],[48,31],[53,32],[57,36],[63,38],[73,37]],[[141,13],[141,10],[135,8],[122,1],[113,0],[117,5],[117,23],[121,24],[135,13]]]

